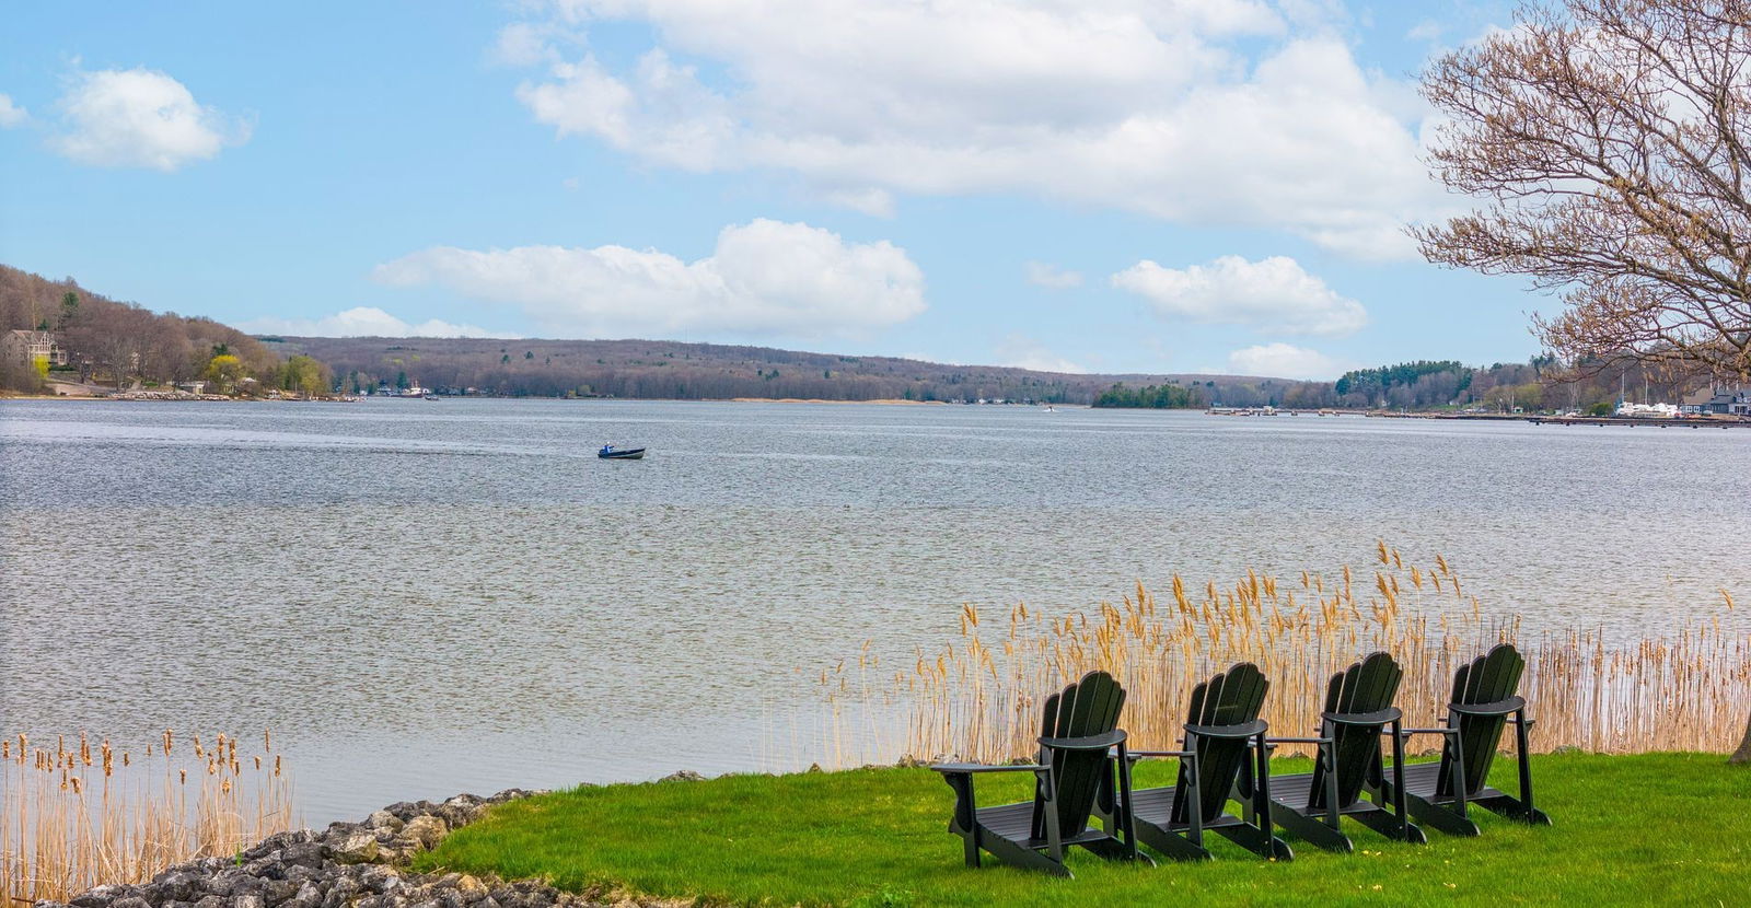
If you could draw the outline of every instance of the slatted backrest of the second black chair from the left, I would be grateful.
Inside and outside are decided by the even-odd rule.
[[[1259,719],[1264,693],[1269,688],[1271,684],[1264,681],[1264,672],[1259,672],[1257,665],[1236,663],[1227,672],[1219,672],[1210,681],[1192,688],[1185,724],[1226,731],[1241,730],[1241,726]],[[1227,796],[1241,766],[1247,765],[1247,738],[1217,738],[1187,731],[1184,749],[1198,754],[1198,808],[1203,822],[1215,821],[1227,808]],[[1173,794],[1173,822],[1191,822],[1189,782],[1191,775],[1182,761]]]

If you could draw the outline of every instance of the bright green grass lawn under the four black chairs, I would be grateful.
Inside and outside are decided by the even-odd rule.
[[[1283,770],[1297,770],[1283,761]],[[1304,766],[1301,763],[1299,766]],[[1170,784],[1171,763],[1138,766]],[[1513,789],[1513,761],[1492,782]],[[1266,863],[1219,836],[1199,864],[1070,857],[1073,880],[961,864],[953,793],[928,770],[858,770],[583,787],[494,808],[422,870],[541,877],[707,905],[1751,905],[1751,772],[1712,754],[1534,758],[1555,826],[1476,810],[1481,838],[1403,845],[1345,821],[1355,854],[1290,838]],[[979,801],[1028,794],[1028,773],[979,779]]]

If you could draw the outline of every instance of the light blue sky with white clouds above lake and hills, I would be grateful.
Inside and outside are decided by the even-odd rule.
[[[9,3],[0,261],[263,332],[1331,378],[1536,352],[1415,72],[1495,2]]]

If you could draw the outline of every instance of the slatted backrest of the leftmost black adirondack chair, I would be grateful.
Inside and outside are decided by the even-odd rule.
[[[1107,672],[1089,672],[1063,693],[1045,698],[1040,717],[1042,738],[1089,738],[1119,728],[1119,710],[1124,709],[1124,688]],[[1112,779],[1112,761],[1107,751],[1040,749],[1040,761],[1051,763],[1052,782],[1058,786],[1059,835],[1073,836],[1087,828],[1094,812],[1094,798]],[[1033,836],[1045,836],[1045,814],[1035,794]]]

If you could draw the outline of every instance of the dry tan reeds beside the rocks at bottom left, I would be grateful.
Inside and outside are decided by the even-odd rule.
[[[145,882],[289,829],[291,775],[273,737],[259,744],[240,754],[235,737],[172,731],[140,752],[88,735],[0,740],[0,908]]]

